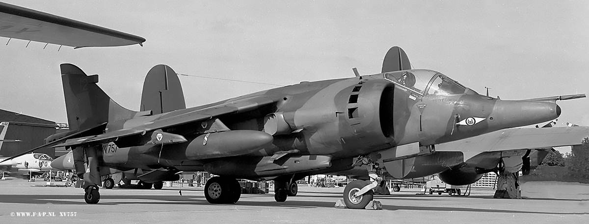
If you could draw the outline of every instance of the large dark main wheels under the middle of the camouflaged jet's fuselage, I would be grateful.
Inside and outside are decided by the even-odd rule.
[[[241,185],[233,178],[213,177],[204,185],[204,198],[209,203],[236,203],[241,196]]]

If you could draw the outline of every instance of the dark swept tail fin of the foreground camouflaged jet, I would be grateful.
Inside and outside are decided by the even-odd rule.
[[[61,80],[70,130],[132,118],[136,113],[121,107],[104,93],[96,84],[97,74],[87,76],[75,65],[61,64]]]

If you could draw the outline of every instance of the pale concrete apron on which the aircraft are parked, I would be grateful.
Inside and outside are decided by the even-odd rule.
[[[333,208],[343,188],[299,186],[283,203],[272,192],[244,194],[235,205],[211,205],[202,187],[114,188],[100,189],[100,203],[88,205],[80,188],[29,185],[0,181],[0,223],[589,223],[589,185],[561,182],[527,182],[525,199],[493,199],[494,190],[482,188],[470,196],[401,189],[375,196],[382,211]],[[68,214],[75,216],[61,216]]]

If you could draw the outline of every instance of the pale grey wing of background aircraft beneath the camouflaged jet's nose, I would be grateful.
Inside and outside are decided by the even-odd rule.
[[[540,149],[580,145],[589,136],[589,127],[508,128],[477,137],[436,145],[436,151],[462,151],[466,154]],[[467,158],[465,158],[466,160]]]

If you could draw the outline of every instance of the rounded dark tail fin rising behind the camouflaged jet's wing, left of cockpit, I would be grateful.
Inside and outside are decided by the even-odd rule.
[[[170,66],[156,65],[145,76],[141,94],[141,111],[161,114],[186,108],[178,75]]]

